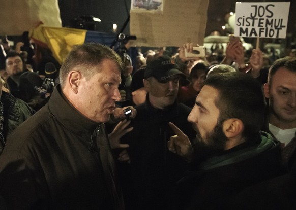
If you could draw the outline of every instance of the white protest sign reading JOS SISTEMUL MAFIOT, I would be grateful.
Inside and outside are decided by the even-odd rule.
[[[290,2],[236,2],[234,35],[286,38]]]

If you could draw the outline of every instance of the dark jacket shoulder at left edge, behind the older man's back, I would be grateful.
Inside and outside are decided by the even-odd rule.
[[[15,98],[12,94],[2,91],[0,103],[2,110],[0,116],[3,117],[3,141],[0,144],[0,154],[5,146],[7,136],[22,122],[31,117],[35,111],[21,99]]]

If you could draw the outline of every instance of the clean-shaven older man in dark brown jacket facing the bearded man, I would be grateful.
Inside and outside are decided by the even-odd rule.
[[[49,102],[9,137],[0,191],[9,209],[124,209],[105,133],[123,62],[107,46],[75,46]]]

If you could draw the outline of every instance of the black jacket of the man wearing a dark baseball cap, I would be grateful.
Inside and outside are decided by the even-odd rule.
[[[182,103],[160,110],[154,109],[147,95],[146,102],[135,107],[134,129],[122,139],[130,145],[130,171],[125,165],[121,177],[126,178],[124,195],[127,209],[167,209],[172,188],[186,170],[187,163],[167,149],[175,133],[168,122],[174,123],[190,138],[195,135],[187,117],[191,109]],[[130,180],[129,180],[130,178]],[[129,183],[129,184],[127,184]]]

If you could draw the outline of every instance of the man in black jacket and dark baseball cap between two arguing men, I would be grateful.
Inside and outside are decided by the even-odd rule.
[[[189,136],[194,130],[187,122],[191,109],[177,103],[179,81],[185,75],[168,56],[150,61],[144,71],[145,103],[136,106],[137,117],[131,120],[133,130],[123,136],[129,144],[130,165],[124,167],[127,207],[129,209],[170,209],[174,183],[186,168],[186,162],[167,149],[173,134],[172,121]],[[128,167],[130,171],[128,172]]]

